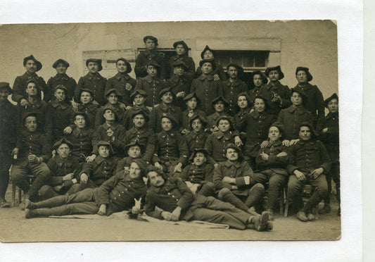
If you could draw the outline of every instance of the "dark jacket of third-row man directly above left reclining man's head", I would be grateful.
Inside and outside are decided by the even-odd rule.
[[[142,158],[147,162],[151,162],[153,154],[155,153],[155,133],[152,130],[148,130],[146,127],[141,129],[132,127],[125,132],[125,145],[136,140],[146,149]],[[127,152],[125,152],[125,154],[127,154]]]

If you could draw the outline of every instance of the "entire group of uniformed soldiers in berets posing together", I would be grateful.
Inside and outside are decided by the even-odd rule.
[[[1,207],[10,206],[9,174],[25,218],[129,210],[264,231],[284,188],[304,222],[322,200],[319,213],[331,211],[332,179],[340,203],[338,96],[324,100],[309,68],[296,68],[293,89],[281,84],[280,66],[255,71],[248,89],[243,68],[230,63],[226,73],[209,46],[196,69],[183,41],[169,61],[158,39],[144,44],[136,80],[125,58],[108,80],[101,59],[88,59],[78,83],[58,59],[46,83],[31,55],[13,89],[0,82]]]

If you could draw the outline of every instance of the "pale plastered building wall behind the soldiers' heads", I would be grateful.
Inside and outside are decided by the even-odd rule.
[[[84,51],[137,49],[144,47],[145,35],[158,37],[160,47],[184,39],[196,65],[206,43],[212,49],[220,49],[220,45],[261,49],[279,42],[276,47],[270,44],[269,48],[280,50],[272,53],[269,66],[281,65],[284,85],[294,87],[295,68],[306,66],[314,77],[311,83],[324,97],[338,92],[337,27],[330,20],[1,25],[0,81],[13,85],[15,76],[25,72],[23,58],[30,54],[42,62],[38,75],[44,80],[56,74],[51,66],[58,58],[70,63],[67,73],[78,80],[85,72]],[[106,70],[101,74],[112,76]]]

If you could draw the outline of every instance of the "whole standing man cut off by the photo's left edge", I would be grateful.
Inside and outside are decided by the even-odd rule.
[[[11,168],[11,151],[15,147],[17,134],[17,109],[8,100],[13,90],[7,82],[0,82],[0,208],[9,207],[5,199],[9,183],[9,168]]]

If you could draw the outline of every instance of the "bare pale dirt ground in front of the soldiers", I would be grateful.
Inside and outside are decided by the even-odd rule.
[[[11,201],[11,186],[6,199]],[[25,219],[18,206],[0,209],[1,242],[80,242],[80,241],[175,241],[175,240],[324,240],[339,239],[341,219],[338,204],[331,200],[331,213],[303,223],[295,216],[279,214],[271,232],[209,229],[186,225],[164,225],[130,219]]]

